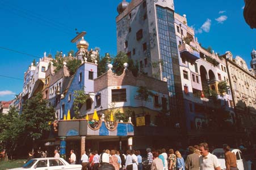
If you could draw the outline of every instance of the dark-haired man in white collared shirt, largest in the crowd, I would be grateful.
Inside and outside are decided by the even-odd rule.
[[[217,156],[209,152],[208,143],[200,143],[199,150],[202,156],[199,158],[200,170],[220,170]]]

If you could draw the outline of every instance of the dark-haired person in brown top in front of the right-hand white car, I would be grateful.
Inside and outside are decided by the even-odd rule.
[[[230,146],[228,146],[227,144],[224,144],[223,150],[225,152],[224,158],[225,158],[226,170],[238,170],[237,158],[236,158],[236,155],[234,155],[234,153],[230,151]]]

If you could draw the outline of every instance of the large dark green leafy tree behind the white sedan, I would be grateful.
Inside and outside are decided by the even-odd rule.
[[[47,107],[47,101],[42,98],[43,95],[37,93],[23,104],[22,118],[26,134],[35,140],[39,140],[43,134],[49,132],[51,129],[49,122],[52,122],[55,116],[54,108]]]

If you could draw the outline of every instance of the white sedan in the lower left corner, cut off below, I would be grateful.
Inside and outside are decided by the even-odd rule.
[[[36,170],[57,170],[57,169],[72,169],[81,170],[82,165],[72,165],[62,158],[35,158],[29,160],[23,167],[14,168],[12,170],[20,169],[36,169]]]

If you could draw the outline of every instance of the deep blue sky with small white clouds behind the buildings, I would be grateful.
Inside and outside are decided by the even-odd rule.
[[[0,0],[0,101],[9,101],[22,91],[24,72],[33,59],[38,61],[44,52],[54,56],[56,51],[76,50],[70,42],[75,28],[87,32],[89,48],[99,47],[102,56],[116,55],[115,18],[120,2]],[[256,29],[245,23],[244,1],[174,0],[174,6],[175,12],[186,14],[202,46],[220,54],[231,51],[249,66],[251,50],[256,49]]]

